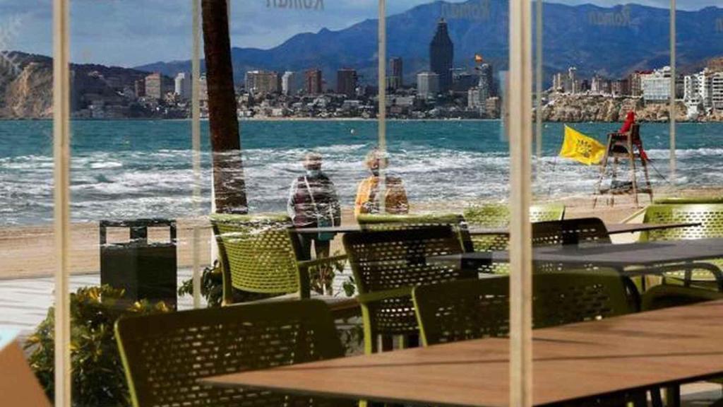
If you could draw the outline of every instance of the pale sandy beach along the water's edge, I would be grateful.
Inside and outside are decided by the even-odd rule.
[[[721,188],[695,190],[678,190],[677,196],[720,196]],[[657,196],[673,195],[672,191],[659,191]],[[537,200],[538,202],[555,201],[567,207],[565,217],[599,217],[604,222],[621,222],[638,211],[632,198],[622,196],[616,198],[615,206],[608,206],[604,199],[599,201],[596,209],[592,208],[591,196],[573,196],[555,198],[554,200]],[[641,206],[648,204],[647,196],[640,196]],[[461,213],[469,202],[455,203],[424,203],[412,204],[412,212]],[[351,208],[343,210],[343,225],[354,225]],[[198,227],[200,239],[198,253],[200,264],[210,264],[211,229],[207,219],[178,219],[178,264],[179,267],[191,267],[194,247],[193,230]],[[97,273],[100,270],[100,249],[97,222],[74,223],[71,230],[72,250],[71,267],[74,274]],[[127,240],[127,230],[109,230],[108,242]],[[168,241],[167,230],[150,230],[150,241]],[[333,251],[341,251],[341,239],[333,242]],[[22,277],[46,277],[54,273],[54,238],[52,225],[3,227],[0,228],[0,279]]]

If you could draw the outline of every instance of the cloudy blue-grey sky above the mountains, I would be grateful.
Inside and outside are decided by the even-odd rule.
[[[273,7],[296,1],[309,9]],[[431,0],[388,1],[388,14]],[[454,0],[458,2],[459,0]],[[492,0],[495,1],[495,0]],[[551,0],[552,1],[552,0]],[[554,0],[609,7],[627,0]],[[669,0],[636,0],[669,7]],[[317,4],[322,5],[318,7]],[[679,9],[720,6],[721,0],[678,0]],[[296,33],[321,28],[339,30],[377,17],[376,0],[231,0],[231,43],[268,49]],[[52,0],[0,0],[0,51],[52,53]],[[133,67],[158,61],[189,59],[189,0],[72,0],[71,52],[77,63]]]

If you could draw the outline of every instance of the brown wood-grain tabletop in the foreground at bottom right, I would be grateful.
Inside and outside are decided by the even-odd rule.
[[[723,372],[723,301],[534,331],[534,403]],[[508,406],[509,342],[483,339],[212,377],[228,387],[435,406]]]

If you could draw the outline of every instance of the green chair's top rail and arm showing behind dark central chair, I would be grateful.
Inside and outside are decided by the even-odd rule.
[[[359,227],[369,230],[414,229],[427,226],[450,226],[458,233],[464,251],[474,251],[467,222],[458,214],[360,214]]]

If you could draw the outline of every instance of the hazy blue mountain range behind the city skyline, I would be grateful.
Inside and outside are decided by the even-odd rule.
[[[481,54],[495,70],[508,66],[508,0],[435,1],[387,17],[388,55],[401,56],[407,83],[429,67],[429,41],[440,18],[448,21],[455,46],[455,67],[469,69]],[[610,8],[591,4],[545,3],[543,9],[544,77],[570,66],[578,75],[622,77],[634,70],[669,64],[669,10],[627,4]],[[677,12],[677,63],[688,70],[723,55],[723,9],[707,7]],[[232,49],[234,76],[248,70],[306,70],[319,67],[334,85],[335,71],[353,67],[362,81],[376,83],[377,20],[343,30],[323,28],[299,33],[271,49]],[[156,62],[137,70],[174,76],[188,72],[190,61]],[[684,68],[685,69],[685,68]],[[330,80],[329,78],[333,78]]]

